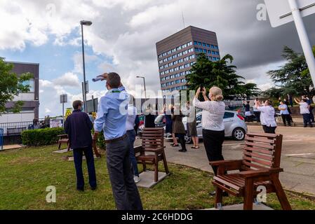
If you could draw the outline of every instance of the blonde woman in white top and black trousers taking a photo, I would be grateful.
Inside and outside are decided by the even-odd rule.
[[[225,104],[223,102],[222,90],[218,87],[212,87],[209,90],[209,99],[206,96],[206,88],[203,88],[202,94],[205,102],[200,102],[198,97],[201,88],[196,92],[194,106],[203,109],[202,127],[203,143],[206,148],[208,160],[224,160],[222,155],[222,144],[224,141],[224,123]],[[217,167],[213,167],[213,172],[217,175]]]

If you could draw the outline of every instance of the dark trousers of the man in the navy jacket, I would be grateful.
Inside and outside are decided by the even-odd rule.
[[[97,183],[92,146],[76,148],[73,151],[74,166],[76,167],[76,188],[78,190],[84,189],[84,177],[82,172],[83,153],[86,156],[86,165],[88,165],[88,183],[90,183],[91,188],[96,188]]]

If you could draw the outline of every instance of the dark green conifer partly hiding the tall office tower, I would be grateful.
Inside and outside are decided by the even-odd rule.
[[[247,97],[257,96],[260,90],[254,83],[245,84],[242,76],[236,74],[236,66],[232,65],[232,55],[225,55],[217,62],[212,62],[205,54],[199,54],[191,73],[187,75],[189,90],[196,90],[203,85],[206,88],[220,87],[225,98],[233,98],[237,94]]]

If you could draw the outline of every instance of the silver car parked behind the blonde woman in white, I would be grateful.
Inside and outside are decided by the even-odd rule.
[[[165,127],[164,115],[160,115],[156,118],[156,127]],[[202,113],[196,114],[197,120],[197,133],[199,139],[202,139]],[[185,130],[187,133],[187,118],[183,118],[183,123],[185,125]],[[247,125],[245,123],[245,119],[243,116],[239,115],[236,111],[225,111],[224,113],[224,126],[225,126],[225,137],[232,137],[236,141],[243,141],[246,137],[246,133],[248,132]],[[166,133],[165,139],[172,140],[172,134]],[[188,134],[185,136],[185,141],[187,144],[192,143],[192,137]]]

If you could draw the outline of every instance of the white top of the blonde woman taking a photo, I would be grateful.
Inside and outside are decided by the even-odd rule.
[[[224,102],[206,101],[200,102],[199,99],[194,99],[192,102],[194,106],[203,109],[202,111],[202,127],[205,130],[218,131],[224,130]]]

